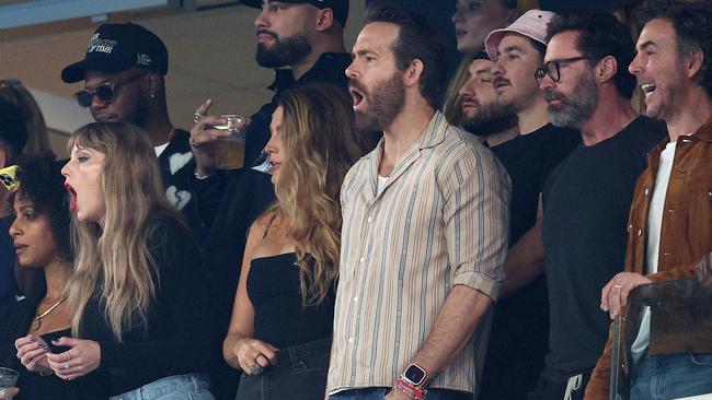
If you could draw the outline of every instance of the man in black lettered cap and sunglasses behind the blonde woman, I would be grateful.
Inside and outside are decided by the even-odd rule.
[[[158,156],[165,195],[188,220],[196,237],[204,234],[191,190],[195,169],[190,133],[173,127],[165,104],[168,49],[152,32],[131,23],[101,25],[89,40],[83,60],[66,67],[67,83],[84,81],[74,94],[96,121],[130,122],[149,136]],[[219,188],[215,188],[219,189]],[[208,197],[209,198],[209,197]],[[209,219],[206,219],[209,220]]]

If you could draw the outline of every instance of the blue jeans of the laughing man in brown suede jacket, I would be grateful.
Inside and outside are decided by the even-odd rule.
[[[712,354],[645,354],[634,374],[630,400],[712,393]]]

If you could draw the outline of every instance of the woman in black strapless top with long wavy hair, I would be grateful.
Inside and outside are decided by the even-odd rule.
[[[323,399],[338,274],[338,191],[364,148],[351,99],[323,84],[282,96],[269,154],[277,201],[250,228],[228,364],[243,370],[237,399]]]

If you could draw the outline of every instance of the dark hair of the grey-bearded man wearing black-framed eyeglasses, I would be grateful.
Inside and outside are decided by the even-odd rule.
[[[572,11],[554,16],[549,24],[549,39],[563,32],[579,32],[576,47],[593,67],[607,56],[616,58],[618,71],[613,83],[618,93],[625,98],[633,96],[635,77],[628,72],[628,66],[635,58],[635,45],[630,30],[616,16],[606,11]]]

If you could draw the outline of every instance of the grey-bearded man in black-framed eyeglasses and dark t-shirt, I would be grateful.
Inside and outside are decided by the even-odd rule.
[[[600,291],[622,269],[625,221],[647,152],[665,126],[631,106],[630,30],[606,12],[552,20],[536,79],[551,121],[578,129],[578,145],[542,196],[550,331],[546,366],[530,399],[583,399],[610,321]]]

